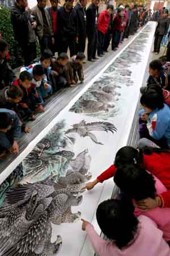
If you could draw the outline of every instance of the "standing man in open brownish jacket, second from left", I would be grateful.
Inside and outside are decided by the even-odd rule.
[[[37,5],[32,9],[32,15],[35,16],[37,22],[36,35],[39,38],[41,53],[44,53],[45,49],[52,49],[52,44],[54,44],[52,24],[45,6],[46,0],[37,0]]]

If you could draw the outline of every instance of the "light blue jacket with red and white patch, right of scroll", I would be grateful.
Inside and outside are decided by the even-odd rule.
[[[140,110],[139,115],[144,112],[144,109]],[[156,140],[164,137],[170,147],[170,109],[166,104],[163,109],[155,109],[148,115],[147,129],[150,136]]]

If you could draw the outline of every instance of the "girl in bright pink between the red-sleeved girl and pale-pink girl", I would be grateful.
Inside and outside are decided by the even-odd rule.
[[[117,168],[114,182],[130,200],[133,200],[135,216],[145,215],[151,218],[162,230],[163,238],[170,241],[170,208],[156,207],[150,210],[141,210],[135,204],[137,201],[140,205],[142,200],[148,198],[152,200],[159,193],[167,191],[162,182],[146,170],[133,164]]]

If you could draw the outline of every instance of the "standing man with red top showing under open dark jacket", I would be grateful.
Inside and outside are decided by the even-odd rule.
[[[48,14],[50,16],[50,22],[52,24],[53,35],[54,35],[54,44],[52,46],[53,55],[55,52],[58,52],[58,24],[57,24],[57,15],[58,15],[58,0],[50,0],[52,7],[47,8]]]

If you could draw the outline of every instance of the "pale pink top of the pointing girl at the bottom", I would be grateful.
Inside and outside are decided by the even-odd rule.
[[[146,216],[139,216],[138,221],[137,237],[133,243],[122,249],[119,249],[113,241],[109,242],[101,238],[94,227],[88,224],[87,236],[96,254],[98,256],[169,256],[169,246],[163,240],[163,232],[158,229],[155,222]]]

